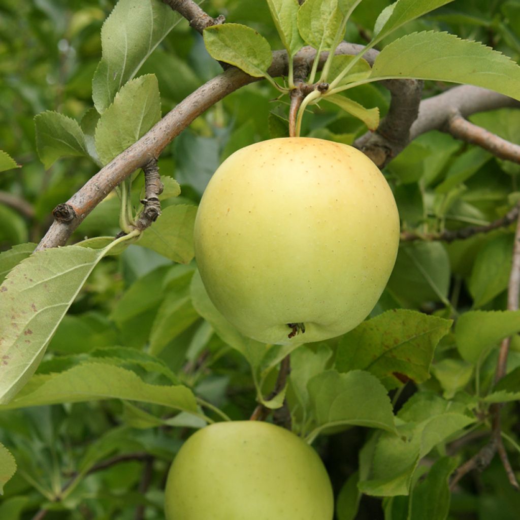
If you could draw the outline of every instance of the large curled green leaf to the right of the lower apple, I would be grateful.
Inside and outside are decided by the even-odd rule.
[[[358,485],[367,495],[408,495],[419,461],[446,439],[462,435],[463,428],[474,422],[457,409],[451,411],[451,401],[433,396],[432,402],[432,396],[418,395],[417,399],[409,399],[414,401],[413,406],[398,413],[400,419],[409,420],[398,426],[399,435],[382,433],[374,451],[370,478]],[[434,407],[427,408],[432,404]]]

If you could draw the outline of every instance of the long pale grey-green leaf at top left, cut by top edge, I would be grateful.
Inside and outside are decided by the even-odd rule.
[[[92,81],[92,99],[105,112],[115,93],[172,30],[180,16],[155,0],[119,0],[101,28],[102,58]]]

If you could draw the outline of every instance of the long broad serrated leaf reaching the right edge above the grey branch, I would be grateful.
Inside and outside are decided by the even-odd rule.
[[[520,67],[514,61],[446,32],[412,33],[395,40],[375,59],[370,77],[471,84],[520,100]]]

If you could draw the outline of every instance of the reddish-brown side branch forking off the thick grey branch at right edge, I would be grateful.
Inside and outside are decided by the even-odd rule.
[[[453,137],[490,151],[495,157],[520,163],[520,146],[467,121],[459,112],[449,118],[446,131]]]

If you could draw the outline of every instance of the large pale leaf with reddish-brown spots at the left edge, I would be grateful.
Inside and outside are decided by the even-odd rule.
[[[22,388],[39,365],[58,324],[103,257],[71,245],[25,259],[0,286],[0,404]]]

